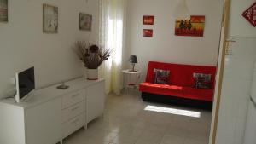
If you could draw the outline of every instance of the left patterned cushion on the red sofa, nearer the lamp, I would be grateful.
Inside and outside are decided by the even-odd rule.
[[[154,68],[154,84],[168,84],[170,71]]]

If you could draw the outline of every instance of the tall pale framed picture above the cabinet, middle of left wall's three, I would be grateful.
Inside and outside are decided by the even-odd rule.
[[[58,7],[43,4],[43,32],[58,32]]]

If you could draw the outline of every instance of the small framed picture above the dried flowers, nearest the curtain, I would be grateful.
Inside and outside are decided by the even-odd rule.
[[[90,14],[79,14],[79,29],[84,31],[91,31],[92,26],[92,15]]]

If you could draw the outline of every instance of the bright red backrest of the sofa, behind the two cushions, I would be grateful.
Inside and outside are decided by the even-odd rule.
[[[146,82],[154,82],[154,68],[170,70],[169,84],[193,87],[195,80],[193,73],[211,74],[212,89],[215,85],[216,66],[192,66],[173,63],[149,61]]]

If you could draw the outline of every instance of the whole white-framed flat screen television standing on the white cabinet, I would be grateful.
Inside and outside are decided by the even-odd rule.
[[[26,101],[26,97],[35,89],[34,67],[15,74],[16,95],[15,101]]]

